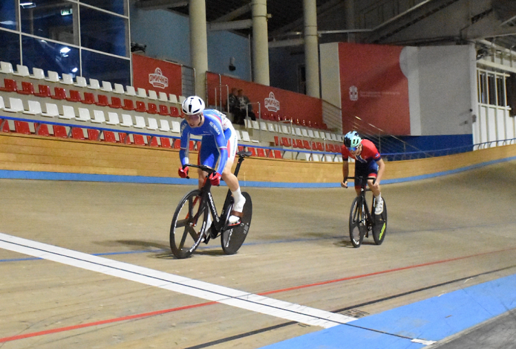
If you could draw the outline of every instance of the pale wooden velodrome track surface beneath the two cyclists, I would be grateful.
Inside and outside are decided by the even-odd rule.
[[[183,185],[0,180],[0,233],[358,316],[514,274],[515,176],[511,161],[385,185],[381,246],[369,238],[352,248],[347,216],[355,194],[341,188],[246,189],[252,226],[230,256],[214,241],[189,259],[171,257],[171,216],[191,189]],[[225,193],[215,188],[216,203]],[[248,349],[321,330],[25,258],[0,248],[6,349]]]

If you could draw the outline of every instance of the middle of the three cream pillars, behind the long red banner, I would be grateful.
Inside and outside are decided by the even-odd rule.
[[[255,83],[270,85],[267,0],[252,0],[252,75]]]

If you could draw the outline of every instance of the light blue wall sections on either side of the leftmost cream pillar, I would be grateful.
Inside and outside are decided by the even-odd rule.
[[[145,54],[191,66],[189,18],[165,10],[131,6],[131,41],[147,45]],[[228,69],[235,57],[237,70]],[[249,40],[230,32],[208,32],[208,70],[250,81]]]

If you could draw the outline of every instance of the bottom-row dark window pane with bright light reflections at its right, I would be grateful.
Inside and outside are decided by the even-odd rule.
[[[79,49],[43,39],[22,36],[23,65],[61,74],[79,74]]]

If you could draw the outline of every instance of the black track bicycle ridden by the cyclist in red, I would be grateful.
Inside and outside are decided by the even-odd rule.
[[[363,179],[363,177],[348,177],[348,180]],[[367,180],[376,181],[376,177],[367,177]],[[387,205],[385,204],[385,198],[383,198],[383,212],[380,215],[374,214],[374,207],[376,206],[376,198],[373,195],[373,203],[371,212],[367,207],[367,200],[365,200],[365,192],[370,191],[366,189],[367,184],[361,186],[360,195],[358,195],[351,204],[350,211],[350,240],[354,247],[360,247],[364,237],[369,237],[369,231],[372,231],[374,243],[377,245],[382,244],[387,233]]]

